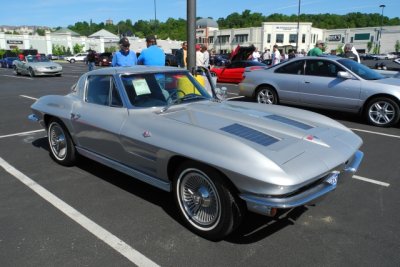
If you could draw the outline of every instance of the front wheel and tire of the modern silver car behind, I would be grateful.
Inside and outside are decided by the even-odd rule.
[[[399,122],[399,105],[390,98],[377,97],[368,102],[365,117],[369,124],[390,127]]]

